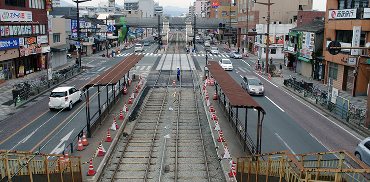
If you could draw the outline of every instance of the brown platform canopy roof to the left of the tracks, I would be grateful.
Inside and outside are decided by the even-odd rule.
[[[96,77],[86,87],[94,85],[116,84],[127,72],[129,72],[144,55],[131,55]]]

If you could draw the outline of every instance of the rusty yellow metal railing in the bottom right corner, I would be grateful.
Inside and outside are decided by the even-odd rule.
[[[237,157],[237,182],[370,182],[370,168],[347,150]]]

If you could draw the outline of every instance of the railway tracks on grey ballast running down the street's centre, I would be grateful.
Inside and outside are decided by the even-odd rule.
[[[183,38],[172,36],[169,45],[173,47],[168,51],[175,52],[178,44],[184,44],[179,39]],[[180,61],[189,62],[186,58]],[[201,122],[206,114],[196,90],[199,84],[190,72],[192,86],[182,86],[182,82],[172,86],[176,73],[161,70],[154,86],[145,88],[143,105],[125,125],[102,182],[211,182]]]

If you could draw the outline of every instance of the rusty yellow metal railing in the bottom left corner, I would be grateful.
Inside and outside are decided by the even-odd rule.
[[[32,158],[34,154],[0,150],[0,182],[12,176],[10,182],[82,182],[81,157],[69,156],[69,161],[61,162],[62,155],[38,153]],[[54,160],[48,160],[49,157]]]

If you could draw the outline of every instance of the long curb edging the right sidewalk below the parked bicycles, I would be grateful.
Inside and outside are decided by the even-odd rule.
[[[360,134],[361,136],[363,137],[368,137],[370,135],[370,132],[369,131],[366,131],[366,130],[361,130],[355,126],[353,126],[352,124],[350,124],[349,122],[346,122],[342,119],[338,119],[337,116],[335,114],[333,114],[332,112],[329,112],[328,110],[326,109],[322,109],[322,107],[319,107],[317,104],[315,103],[312,103],[311,101],[307,100],[306,98],[302,97],[300,94],[297,94],[296,92],[292,91],[291,89],[289,88],[286,88],[283,86],[284,89],[288,90],[289,92],[293,93],[294,95],[298,96],[299,98],[303,99],[305,102],[309,103],[311,106],[317,108],[317,109],[320,109],[321,111],[323,111],[325,114],[333,117],[334,119],[336,119],[336,121],[339,121],[340,123],[344,124],[345,126],[347,126],[348,128],[356,131],[358,134]],[[350,122],[353,122],[355,123],[354,121],[352,121],[350,119]]]

